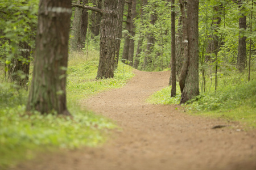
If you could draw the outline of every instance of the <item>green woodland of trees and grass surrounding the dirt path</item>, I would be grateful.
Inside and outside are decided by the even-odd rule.
[[[104,141],[102,129],[115,125],[77,105],[121,87],[133,68],[171,70],[170,86],[151,103],[185,103],[194,112],[255,127],[255,8],[253,0],[2,0],[0,155],[9,157],[0,159],[0,168],[30,147]],[[196,41],[192,47],[187,37]],[[185,90],[184,63],[195,66]]]

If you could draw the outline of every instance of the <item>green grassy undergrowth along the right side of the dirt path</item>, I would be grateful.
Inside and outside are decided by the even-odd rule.
[[[214,91],[212,86],[208,92],[201,92],[185,107],[192,114],[240,121],[247,128],[256,128],[256,74],[251,75],[251,78],[252,80],[247,82],[246,75],[242,74],[222,76],[218,79],[217,91]],[[176,97],[170,97],[170,86],[156,92],[147,101],[154,104],[179,104],[179,86],[176,89]]]

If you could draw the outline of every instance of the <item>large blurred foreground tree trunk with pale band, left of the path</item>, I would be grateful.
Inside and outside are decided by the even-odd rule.
[[[71,0],[40,0],[35,66],[27,111],[69,115],[66,71]]]

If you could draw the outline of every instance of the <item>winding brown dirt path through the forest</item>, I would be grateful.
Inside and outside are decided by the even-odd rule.
[[[256,169],[256,130],[194,116],[178,105],[147,104],[148,96],[168,86],[170,71],[134,73],[126,86],[81,102],[122,128],[104,145],[42,154],[13,169]],[[212,129],[217,125],[226,127]]]

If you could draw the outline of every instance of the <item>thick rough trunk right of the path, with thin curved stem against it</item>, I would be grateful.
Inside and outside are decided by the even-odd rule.
[[[199,95],[199,0],[188,1],[188,68],[180,103]]]

